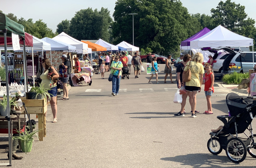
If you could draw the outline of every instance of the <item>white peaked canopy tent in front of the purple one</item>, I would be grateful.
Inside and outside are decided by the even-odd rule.
[[[190,47],[193,48],[192,52],[200,52],[201,47],[244,47],[252,46],[253,52],[253,39],[238,35],[223,26],[217,26],[215,29],[206,33],[205,35],[190,41]],[[203,53],[203,52],[201,52]],[[254,54],[253,54],[254,55]],[[206,54],[204,55],[205,59]],[[254,63],[254,57],[253,57]]]

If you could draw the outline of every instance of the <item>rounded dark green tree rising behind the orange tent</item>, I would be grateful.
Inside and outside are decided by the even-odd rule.
[[[100,11],[97,9],[93,11],[92,8],[81,9],[70,20],[69,35],[78,40],[98,40],[102,38],[109,41],[111,22],[112,18],[107,8],[102,7]],[[59,23],[59,26],[61,26],[61,23]]]

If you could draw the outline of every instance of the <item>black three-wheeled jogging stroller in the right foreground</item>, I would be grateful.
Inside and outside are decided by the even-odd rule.
[[[256,158],[256,134],[252,133],[251,121],[256,115],[256,101],[252,97],[239,96],[229,93],[226,96],[229,115],[217,116],[224,123],[218,132],[211,132],[211,138],[207,142],[208,150],[212,154],[220,154],[222,149],[226,151],[227,157],[235,163],[245,160],[247,151]],[[250,136],[246,135],[248,129]],[[238,137],[244,133],[247,138]]]

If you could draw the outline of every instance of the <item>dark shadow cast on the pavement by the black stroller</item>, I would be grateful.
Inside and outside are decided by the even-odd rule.
[[[252,157],[246,157],[246,160],[252,160]],[[231,162],[227,156],[218,156],[213,154],[186,154],[175,157],[163,157],[161,160],[179,162],[181,166],[187,167],[234,167],[239,163]],[[172,163],[170,163],[172,164]],[[230,166],[229,166],[230,165]],[[239,166],[240,167],[240,166]],[[241,166],[249,168],[251,166]]]

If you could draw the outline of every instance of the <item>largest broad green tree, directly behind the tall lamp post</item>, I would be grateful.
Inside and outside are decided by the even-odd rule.
[[[201,30],[180,0],[117,0],[113,14],[115,43],[125,40],[132,44],[134,15],[134,45],[151,48],[154,53],[173,53],[180,42]]]

